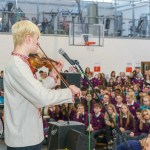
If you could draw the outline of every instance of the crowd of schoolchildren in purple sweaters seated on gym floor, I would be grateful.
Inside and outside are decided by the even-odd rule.
[[[81,84],[81,98],[75,104],[51,106],[46,121],[78,121],[85,125],[85,132],[90,132],[97,141],[113,143],[112,131],[115,125],[119,126],[127,140],[141,140],[150,130],[150,75],[144,79],[139,70],[126,75],[121,72],[116,76],[112,71],[108,82],[105,75],[96,76],[87,67],[85,71],[90,79],[98,97],[88,87],[85,78]],[[40,80],[44,79],[44,72],[40,71]],[[0,103],[3,97],[1,91]],[[90,108],[90,109],[89,109]],[[108,111],[109,115],[107,114]],[[112,117],[112,120],[109,118]],[[44,128],[48,123],[43,121]],[[121,135],[117,134],[117,144],[123,142]]]

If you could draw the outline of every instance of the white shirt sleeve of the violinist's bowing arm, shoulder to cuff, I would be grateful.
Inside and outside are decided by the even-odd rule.
[[[26,64],[20,62],[19,59],[15,63],[15,67],[10,65],[6,68],[5,80],[9,80],[12,87],[37,108],[73,102],[72,90],[68,88],[61,90],[46,89],[40,81],[34,78]]]

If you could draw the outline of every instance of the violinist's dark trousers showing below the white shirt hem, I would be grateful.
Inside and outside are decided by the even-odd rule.
[[[7,150],[41,150],[42,143],[33,145],[33,146],[27,146],[27,147],[9,147],[7,146]]]

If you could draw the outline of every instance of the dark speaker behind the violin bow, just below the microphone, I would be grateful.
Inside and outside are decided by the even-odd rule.
[[[61,73],[63,78],[69,83],[69,85],[76,85],[81,88],[81,74],[79,73]],[[66,88],[64,83],[61,81],[61,88]]]

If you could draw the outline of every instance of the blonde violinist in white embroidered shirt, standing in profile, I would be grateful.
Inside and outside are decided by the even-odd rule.
[[[80,89],[70,85],[66,89],[50,90],[33,75],[29,54],[37,53],[40,31],[30,21],[19,21],[12,26],[14,49],[4,73],[5,143],[7,150],[41,150],[43,124],[41,108],[47,105],[73,103]],[[55,64],[55,79],[63,67]],[[53,82],[55,84],[55,82]]]

